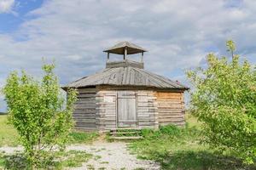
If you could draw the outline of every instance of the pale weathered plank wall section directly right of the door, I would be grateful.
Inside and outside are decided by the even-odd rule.
[[[138,127],[158,128],[158,108],[154,91],[137,91]]]

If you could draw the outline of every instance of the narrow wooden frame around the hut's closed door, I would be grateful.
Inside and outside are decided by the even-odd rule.
[[[119,91],[131,91],[134,92],[134,96],[135,96],[135,117],[136,117],[136,121],[135,121],[135,127],[138,126],[138,116],[137,116],[137,90],[117,90],[116,91],[116,99],[115,99],[115,116],[116,116],[116,122],[115,125],[117,128],[119,128]]]

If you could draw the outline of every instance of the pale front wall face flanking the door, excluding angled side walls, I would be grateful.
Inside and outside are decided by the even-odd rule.
[[[158,128],[154,91],[133,91],[137,99],[137,127]],[[117,92],[118,90],[101,89],[96,93],[96,127],[101,131],[117,127]]]

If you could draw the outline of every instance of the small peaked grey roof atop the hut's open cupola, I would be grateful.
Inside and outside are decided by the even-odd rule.
[[[127,54],[137,54],[137,53],[143,53],[147,51],[146,49],[141,48],[131,42],[119,42],[116,45],[114,45],[112,48],[108,48],[104,50],[104,52],[113,53],[113,54],[124,54],[125,47],[127,48]]]

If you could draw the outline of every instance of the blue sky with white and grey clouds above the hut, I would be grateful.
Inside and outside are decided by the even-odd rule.
[[[120,41],[148,49],[146,70],[188,84],[184,71],[206,65],[208,53],[230,56],[229,39],[255,65],[255,38],[255,0],[0,0],[0,87],[10,71],[40,77],[43,58],[61,85],[88,76]]]

